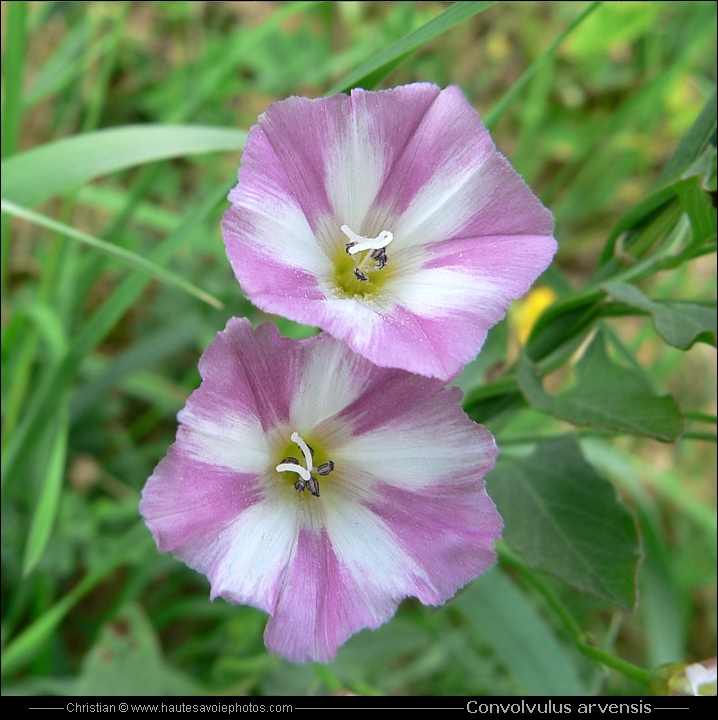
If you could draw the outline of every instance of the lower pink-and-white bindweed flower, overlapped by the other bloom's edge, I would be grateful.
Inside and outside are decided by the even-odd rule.
[[[403,598],[438,605],[494,564],[496,446],[457,388],[238,319],[200,373],[140,511],[212,598],[271,615],[271,652],[329,661]]]

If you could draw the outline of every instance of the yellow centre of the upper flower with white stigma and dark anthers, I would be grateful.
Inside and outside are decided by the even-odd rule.
[[[334,260],[334,282],[340,293],[349,298],[375,295],[391,275],[387,267],[386,248],[394,239],[390,230],[382,230],[376,237],[357,235],[348,225],[342,225],[348,238],[343,250],[337,250]],[[381,271],[381,272],[379,272]]]

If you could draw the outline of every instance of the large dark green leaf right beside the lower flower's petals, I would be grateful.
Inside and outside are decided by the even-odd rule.
[[[541,443],[529,457],[501,458],[487,487],[504,518],[504,540],[526,565],[633,608],[636,528],[573,437]]]

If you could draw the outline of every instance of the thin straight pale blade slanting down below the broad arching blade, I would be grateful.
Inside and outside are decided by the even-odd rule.
[[[82,232],[81,230],[76,230],[69,225],[65,225],[64,223],[58,222],[57,220],[53,220],[46,215],[41,215],[34,210],[28,210],[27,208],[20,207],[15,203],[8,202],[4,198],[0,199],[0,208],[3,212],[14,215],[15,217],[21,217],[25,220],[29,220],[36,225],[40,225],[41,227],[47,228],[48,230],[54,230],[55,232],[61,233],[63,235],[66,235],[67,237],[71,237],[75,240],[78,240],[79,242],[85,243],[90,247],[94,247],[97,250],[101,250],[108,255],[112,255],[113,257],[122,261],[124,264],[129,265],[130,267],[137,270],[142,270],[156,280],[167,283],[168,285],[178,287],[181,290],[189,293],[190,295],[194,295],[196,298],[199,298],[203,302],[206,302],[212,307],[216,307],[219,309],[222,308],[222,303],[216,298],[212,297],[209,293],[206,293],[204,290],[201,290],[192,283],[187,282],[187,280],[185,280],[184,278],[175,275],[169,270],[165,270],[163,267],[156,265],[155,263],[147,260],[141,255],[132,253],[129,250],[125,250],[124,248],[121,248],[117,245],[112,245],[111,243],[100,240],[100,238],[96,238],[93,235]]]

